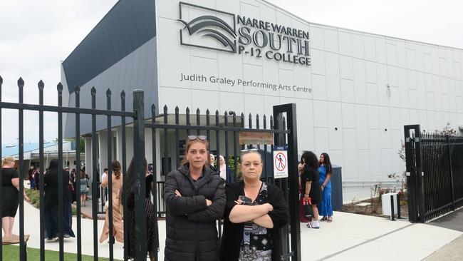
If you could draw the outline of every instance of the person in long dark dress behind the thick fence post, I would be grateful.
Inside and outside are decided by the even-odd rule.
[[[145,160],[145,171],[147,170],[147,162]],[[135,165],[130,161],[129,168],[125,175],[125,196],[127,197],[127,222],[128,222],[128,242],[124,242],[124,247],[128,247],[128,257],[135,258]],[[121,188],[120,195],[124,195]],[[124,205],[124,197],[120,197],[120,204]],[[149,198],[145,198],[145,216],[146,216],[146,250],[150,255],[150,260],[155,260],[155,251],[158,251],[159,241],[157,238],[157,224],[155,224],[155,206]]]

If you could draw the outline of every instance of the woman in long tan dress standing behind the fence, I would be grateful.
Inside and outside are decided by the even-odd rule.
[[[111,184],[112,184],[112,194],[113,194],[113,236],[118,242],[124,242],[124,223],[123,223],[123,210],[120,205],[120,190],[123,188],[123,175],[120,173],[120,163],[118,160],[114,160],[111,163]],[[103,188],[107,187],[109,183],[108,175],[103,178],[101,186]],[[100,243],[104,242],[109,237],[109,205],[106,208],[106,218],[105,225],[103,226],[103,231],[100,236]]]

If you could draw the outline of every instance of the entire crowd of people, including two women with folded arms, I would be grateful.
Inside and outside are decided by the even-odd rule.
[[[166,176],[164,198],[167,207],[165,260],[276,260],[274,237],[276,230],[288,223],[288,206],[280,188],[261,180],[263,163],[259,150],[242,150],[239,157],[240,179],[234,181],[235,174],[222,155],[216,159],[209,153],[206,136],[189,135],[182,164]],[[13,235],[19,198],[19,174],[14,169],[14,158],[2,160],[2,227],[4,236]],[[121,164],[114,160],[110,171],[105,168],[102,187],[111,183],[113,236],[117,242],[124,242],[126,232],[129,257],[135,258],[135,182],[134,159],[130,162],[126,177],[121,172]],[[145,160],[145,218],[147,224],[146,249],[150,260],[154,260],[159,250],[155,206],[150,195],[155,193],[153,168]],[[311,151],[301,156],[298,165],[300,189],[300,219],[308,227],[319,228],[320,221],[333,220],[331,206],[332,166],[327,153],[318,159]],[[39,169],[29,170],[31,189],[38,189]],[[63,182],[58,183],[58,175]],[[76,176],[80,175],[80,184]],[[85,169],[76,173],[66,167],[58,170],[58,160],[51,160],[46,175],[45,188],[45,236],[47,241],[58,240],[58,191],[61,186],[64,197],[61,200],[63,215],[63,237],[74,237],[72,230],[71,203],[75,200],[75,190],[79,189],[80,203],[85,206],[88,193],[88,175]],[[126,183],[128,230],[123,223],[123,184]],[[73,198],[74,197],[74,198]],[[3,200],[3,199],[11,200]],[[28,200],[26,194],[24,199]],[[8,202],[6,204],[5,202]],[[109,204],[109,203],[106,203]],[[307,207],[306,207],[307,206]],[[306,215],[304,208],[310,208]],[[106,209],[105,225],[100,242],[110,235],[110,208]],[[320,218],[322,217],[322,218]],[[223,219],[224,230],[219,244],[217,220]]]

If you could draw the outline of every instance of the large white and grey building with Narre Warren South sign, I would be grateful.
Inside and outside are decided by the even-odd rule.
[[[312,24],[261,0],[121,0],[63,61],[62,82],[68,106],[81,86],[86,108],[93,86],[97,108],[106,108],[111,88],[114,98],[128,93],[131,111],[131,93],[140,88],[145,112],[154,103],[161,114],[167,105],[170,115],[178,106],[181,113],[270,116],[272,106],[296,103],[298,149],[327,152],[342,166],[348,201],[369,197],[372,184],[405,170],[397,156],[404,125],[430,132],[463,126],[462,63],[462,49]],[[120,109],[115,101],[112,108]],[[89,119],[82,116],[81,133],[90,133]],[[68,137],[73,122],[69,115]],[[97,121],[98,130],[105,126]],[[130,131],[129,124],[128,137]],[[107,165],[106,135],[98,133],[100,169]],[[121,159],[120,127],[111,140],[112,158]],[[150,144],[147,134],[147,158]],[[132,141],[127,145],[130,159]],[[176,168],[173,158],[168,162]]]

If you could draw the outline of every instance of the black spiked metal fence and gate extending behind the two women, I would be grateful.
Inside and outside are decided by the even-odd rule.
[[[249,115],[248,127],[245,128],[245,118],[244,114],[241,113],[241,116],[237,117],[234,112],[225,112],[220,115],[216,111],[214,116],[209,115],[209,111],[206,111],[206,115],[201,115],[200,111],[197,110],[194,117],[190,115],[189,110],[185,114],[180,114],[178,108],[175,110],[174,115],[167,113],[167,107],[163,108],[164,111],[162,114],[157,115],[155,107],[152,106],[151,111],[151,123],[145,123],[145,113],[144,113],[144,93],[142,91],[133,91],[133,111],[125,111],[125,92],[120,93],[120,111],[113,111],[111,108],[111,103],[113,98],[111,96],[111,91],[108,89],[106,91],[106,109],[101,110],[96,108],[96,89],[93,87],[90,90],[91,94],[91,108],[80,108],[80,87],[76,86],[75,88],[75,107],[66,107],[63,106],[63,86],[61,83],[57,86],[57,101],[58,106],[46,106],[43,104],[43,88],[45,87],[44,83],[40,81],[38,83],[38,104],[26,104],[23,101],[24,97],[24,81],[22,78],[19,78],[18,81],[18,90],[19,90],[19,99],[18,103],[10,103],[1,101],[1,86],[3,84],[3,79],[0,77],[0,145],[1,145],[1,111],[2,109],[12,109],[18,111],[19,115],[19,260],[26,260],[26,248],[24,235],[26,231],[24,230],[24,175],[26,170],[24,168],[24,111],[36,111],[38,112],[38,136],[39,136],[39,164],[41,170],[45,170],[46,166],[44,165],[44,153],[43,153],[43,134],[46,130],[46,126],[43,124],[43,112],[56,113],[56,119],[58,123],[58,170],[63,169],[63,113],[75,115],[75,140],[76,144],[80,144],[80,116],[81,115],[90,115],[91,116],[91,132],[87,133],[91,136],[91,164],[87,165],[87,172],[91,175],[91,190],[92,195],[98,195],[99,185],[98,185],[98,161],[97,161],[97,128],[96,120],[97,116],[106,118],[106,128],[100,132],[106,132],[108,136],[108,166],[111,165],[112,158],[112,140],[111,140],[111,131],[114,126],[111,124],[112,118],[120,118],[121,122],[121,136],[122,136],[122,157],[120,163],[122,164],[123,175],[126,175],[126,170],[128,168],[125,163],[127,162],[126,158],[126,140],[133,141],[134,145],[134,165],[135,165],[135,175],[134,175],[134,198],[135,198],[135,245],[136,249],[136,260],[145,260],[146,258],[146,220],[145,220],[145,129],[150,129],[152,131],[152,163],[154,165],[154,170],[161,169],[162,175],[167,175],[167,173],[172,168],[177,168],[180,165],[180,160],[182,159],[182,138],[186,137],[190,133],[195,134],[206,134],[207,138],[211,140],[211,150],[214,150],[217,155],[224,155],[226,159],[234,159],[234,169],[237,169],[239,150],[244,147],[254,146],[261,150],[261,153],[264,154],[264,173],[262,178],[269,183],[275,183],[278,185],[283,192],[285,193],[285,198],[288,200],[289,211],[290,211],[290,225],[291,225],[291,234],[288,232],[288,226],[284,227],[280,231],[280,242],[276,244],[281,245],[281,253],[277,255],[281,256],[282,260],[301,260],[301,240],[300,240],[300,224],[298,220],[298,180],[297,180],[297,130],[296,130],[296,106],[294,104],[286,104],[281,106],[274,106],[274,118],[270,116],[269,121],[267,121],[266,116],[261,118],[256,116],[255,124],[252,121],[252,116]],[[130,118],[133,123],[133,137],[126,138],[126,118]],[[192,125],[191,118],[194,118],[195,125]],[[157,119],[160,122],[157,122]],[[204,119],[204,121],[202,120]],[[180,122],[182,121],[182,123]],[[263,123],[263,124],[261,124]],[[269,123],[269,124],[268,124]],[[254,127],[253,127],[254,126]],[[269,168],[267,164],[267,154],[271,153],[272,149],[270,145],[256,145],[256,144],[239,144],[239,133],[241,131],[254,132],[254,133],[271,133],[274,136],[275,145],[288,145],[288,178],[273,178],[273,168]],[[132,140],[130,139],[132,138]],[[157,144],[160,143],[160,144]],[[172,145],[173,144],[173,145]],[[158,153],[157,148],[160,148]],[[0,153],[0,158],[1,158]],[[218,158],[218,157],[217,157]],[[80,147],[76,146],[76,162],[80,163]],[[228,160],[226,160],[228,164]],[[157,164],[162,164],[160,168],[157,168]],[[45,174],[46,175],[46,174]],[[112,191],[112,175],[108,175],[108,191]],[[2,182],[1,168],[0,168],[0,183]],[[45,253],[45,207],[44,207],[44,171],[40,172],[39,175],[39,198],[40,198],[40,219],[38,220],[40,224],[40,235],[32,235],[33,237],[40,237],[40,260],[47,260]],[[63,184],[63,175],[58,175],[58,184]],[[157,211],[156,216],[161,216],[165,214],[165,204],[162,199],[164,192],[164,183],[162,180],[157,180],[157,173],[154,175],[153,182],[157,187],[156,193],[152,194],[153,202],[157,206],[155,210]],[[76,184],[80,184],[80,175],[76,175]],[[3,190],[3,186],[0,186],[0,195]],[[64,193],[67,193],[66,188],[61,186],[58,189],[58,239],[59,239],[59,258],[58,260],[64,260],[64,244],[63,244],[63,204],[64,204]],[[127,191],[126,183],[123,183],[123,191]],[[77,205],[77,217],[76,217],[76,250],[77,250],[77,260],[82,260],[82,240],[83,240],[83,230],[81,223],[81,214],[80,214],[80,189],[76,189],[76,205]],[[98,198],[98,197],[95,197]],[[85,237],[85,240],[93,241],[93,259],[96,261],[99,258],[98,255],[98,200],[92,200],[92,215],[93,215],[93,232],[91,239]],[[123,193],[123,213],[128,213],[127,209],[127,195]],[[101,198],[100,200],[103,200]],[[108,215],[109,220],[113,220],[113,198],[112,193],[108,193]],[[103,204],[102,204],[103,205]],[[1,212],[1,210],[0,210]],[[1,213],[0,213],[1,214]],[[157,220],[153,220],[157,226]],[[127,215],[124,215],[124,230],[128,231],[128,220]],[[221,225],[219,225],[219,234],[221,230]],[[87,231],[85,231],[87,232]],[[109,259],[114,259],[114,248],[115,238],[113,235],[113,222],[109,222]],[[124,260],[128,260],[128,233],[124,233]],[[0,242],[2,242],[3,236],[0,237]],[[0,245],[0,257],[3,256],[3,244]],[[157,260],[157,252],[155,252],[155,257]]]

